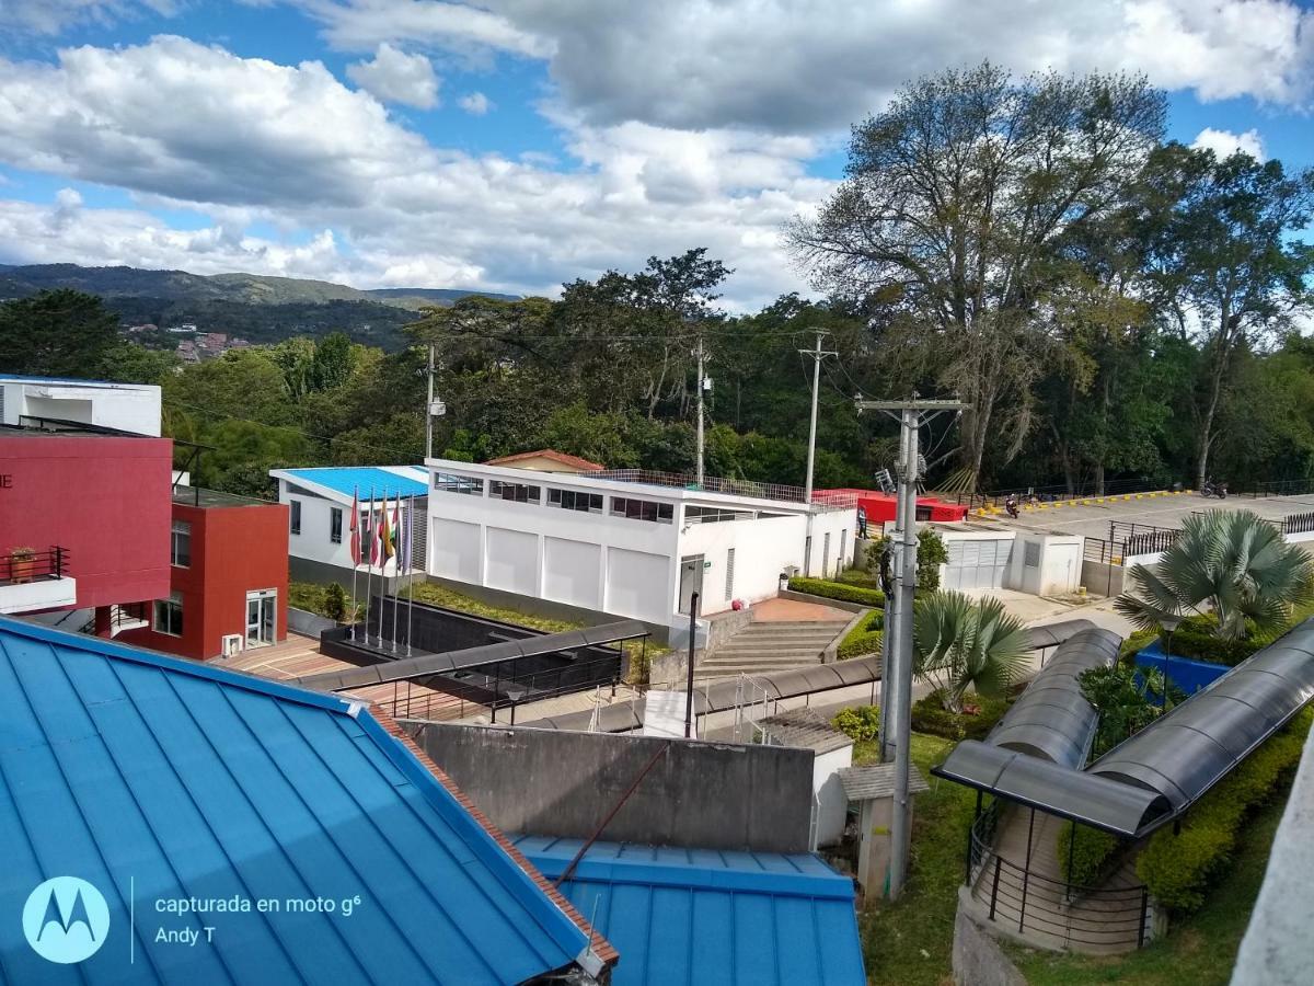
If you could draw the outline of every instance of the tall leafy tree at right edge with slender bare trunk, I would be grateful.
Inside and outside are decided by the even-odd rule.
[[[1192,402],[1200,488],[1235,354],[1314,310],[1314,247],[1293,238],[1314,214],[1314,170],[1289,177],[1279,160],[1240,151],[1218,160],[1180,145],[1164,147],[1155,167],[1162,193],[1176,200],[1156,243],[1156,276],[1179,330],[1204,356]]]

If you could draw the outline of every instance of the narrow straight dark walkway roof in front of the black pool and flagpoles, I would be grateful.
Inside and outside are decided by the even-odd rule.
[[[518,657],[536,657],[539,655],[574,651],[582,647],[614,644],[622,640],[648,636],[650,632],[643,623],[633,619],[624,619],[615,623],[585,627],[583,630],[562,630],[557,634],[540,634],[519,640],[501,640],[495,644],[466,647],[460,651],[422,653],[417,657],[388,660],[351,670],[309,674],[302,678],[294,678],[294,682],[302,688],[344,692],[352,688],[381,685],[389,681],[406,681],[407,678],[423,677],[426,674],[449,674],[453,670],[478,668],[484,664],[510,661]]]

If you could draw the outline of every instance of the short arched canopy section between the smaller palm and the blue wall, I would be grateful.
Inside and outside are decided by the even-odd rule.
[[[1121,643],[1113,631],[1095,627],[1060,643],[986,741],[1080,769],[1100,716],[1081,694],[1079,678],[1112,665]]]

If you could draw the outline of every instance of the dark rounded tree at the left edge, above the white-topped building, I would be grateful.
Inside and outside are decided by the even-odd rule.
[[[100,372],[118,342],[118,317],[95,294],[42,291],[0,304],[0,367],[28,376]]]

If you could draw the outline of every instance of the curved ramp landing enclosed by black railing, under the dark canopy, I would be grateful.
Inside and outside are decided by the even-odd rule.
[[[1031,945],[1087,954],[1131,952],[1148,940],[1154,907],[1130,856],[1097,890],[1070,897],[1058,858],[1058,835],[1068,823],[1037,811],[1033,827],[1030,815],[1016,807],[1000,820],[995,852],[986,855],[971,890],[980,923]]]

